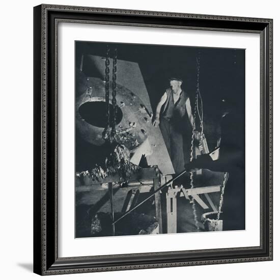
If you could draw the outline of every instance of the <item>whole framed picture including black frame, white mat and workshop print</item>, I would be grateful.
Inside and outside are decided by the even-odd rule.
[[[272,19],[34,8],[34,272],[272,260]]]

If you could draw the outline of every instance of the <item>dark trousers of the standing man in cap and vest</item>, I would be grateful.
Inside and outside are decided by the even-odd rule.
[[[167,151],[169,152],[174,171],[175,173],[179,173],[184,170],[185,163],[183,131],[180,131],[178,123],[164,118],[160,119],[159,127]]]

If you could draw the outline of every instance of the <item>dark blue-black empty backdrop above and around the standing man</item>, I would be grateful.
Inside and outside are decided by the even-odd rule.
[[[157,102],[169,87],[169,78],[173,76],[182,78],[182,88],[189,95],[192,108],[194,107],[197,88],[196,59],[200,58],[199,85],[204,108],[204,132],[210,150],[215,148],[220,133],[221,99],[226,99],[234,114],[245,120],[244,49],[77,41],[76,67],[79,67],[82,54],[105,57],[106,45],[111,49],[117,47],[119,60],[138,63],[154,112]],[[83,73],[86,76],[92,75],[92,69],[87,67],[89,64],[85,63]],[[244,126],[245,122],[239,125]]]

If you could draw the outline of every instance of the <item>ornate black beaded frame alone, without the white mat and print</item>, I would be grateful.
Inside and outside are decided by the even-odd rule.
[[[95,256],[58,255],[58,23],[260,35],[260,246]],[[258,96],[258,93],[256,93]],[[74,152],[74,151],[73,151]],[[40,275],[272,260],[272,19],[107,8],[34,8],[34,272]]]

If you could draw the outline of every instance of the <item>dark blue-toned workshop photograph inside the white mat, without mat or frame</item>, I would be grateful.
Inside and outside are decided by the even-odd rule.
[[[75,238],[246,230],[245,49],[74,43]]]

